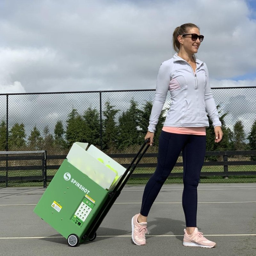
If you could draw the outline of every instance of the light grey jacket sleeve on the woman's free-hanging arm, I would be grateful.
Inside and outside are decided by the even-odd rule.
[[[207,79],[207,84],[204,90],[205,110],[212,121],[213,127],[215,128],[216,126],[221,126],[221,122],[220,122],[215,101],[213,99],[212,90],[211,90],[210,81],[209,81],[209,72],[205,63],[204,63],[204,68],[205,68],[206,79]]]

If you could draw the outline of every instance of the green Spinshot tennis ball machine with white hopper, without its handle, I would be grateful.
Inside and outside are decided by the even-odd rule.
[[[126,169],[88,143],[76,142],[45,190],[34,212],[67,238],[70,246],[94,240],[89,228],[106,208]],[[116,196],[117,197],[117,196]],[[96,227],[97,228],[97,227]]]

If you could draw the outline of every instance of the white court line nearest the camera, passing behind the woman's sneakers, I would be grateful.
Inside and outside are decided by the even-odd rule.
[[[148,235],[151,237],[174,237],[184,235]],[[256,236],[256,234],[228,234],[228,235],[205,235],[205,236]],[[131,235],[120,235],[120,236],[97,236],[97,237],[131,237]],[[31,236],[31,237],[0,237],[0,239],[42,239],[42,238],[64,238],[64,236]]]

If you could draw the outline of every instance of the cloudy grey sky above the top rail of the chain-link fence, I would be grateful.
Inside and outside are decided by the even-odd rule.
[[[212,87],[256,86],[255,0],[0,0],[0,93],[154,89],[187,22]]]

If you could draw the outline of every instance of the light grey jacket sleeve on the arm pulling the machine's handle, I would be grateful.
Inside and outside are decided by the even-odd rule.
[[[156,91],[151,114],[149,117],[149,132],[155,132],[156,124],[158,123],[159,116],[166,100],[167,92],[170,85],[170,65],[163,62],[159,68],[156,81]]]

